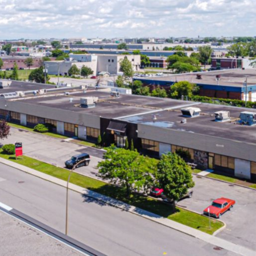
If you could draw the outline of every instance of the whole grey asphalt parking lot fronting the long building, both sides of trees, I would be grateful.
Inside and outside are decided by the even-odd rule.
[[[11,136],[3,143],[14,142],[23,143],[24,154],[60,167],[64,167],[65,160],[70,159],[71,156],[86,152],[90,154],[91,162],[87,167],[77,168],[76,172],[91,177],[97,174],[95,167],[104,154],[103,150],[97,148],[12,128]],[[219,197],[236,200],[232,211],[221,216],[221,220],[227,226],[217,236],[256,250],[256,214],[254,214],[256,212],[256,191],[203,176],[194,175],[194,180],[196,185],[193,188],[192,199],[181,200],[178,205],[203,213],[203,210]]]

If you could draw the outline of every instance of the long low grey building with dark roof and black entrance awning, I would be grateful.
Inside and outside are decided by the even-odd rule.
[[[0,82],[1,118],[144,154],[189,151],[202,169],[256,180],[256,110],[18,81]],[[105,134],[105,135],[104,135]]]

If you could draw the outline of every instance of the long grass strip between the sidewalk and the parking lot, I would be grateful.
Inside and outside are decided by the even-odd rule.
[[[22,164],[23,166],[30,167],[45,174],[57,177],[61,180],[68,179],[68,170],[52,166],[51,164],[47,164],[33,158],[29,158],[28,156],[23,156],[23,159],[16,160],[14,156],[5,155],[2,153],[2,150],[0,150],[0,157],[9,159],[15,163]],[[125,195],[125,189],[115,187],[114,185],[106,184],[103,181],[95,180],[76,173],[72,174],[71,183],[134,205],[135,207],[148,210],[149,212],[159,214],[160,216],[169,218],[170,220],[177,221],[181,224],[201,230],[208,234],[213,234],[213,232],[224,225],[218,220],[212,220],[211,228],[209,228],[209,219],[205,216],[201,216],[200,214],[189,212],[188,210],[184,210],[178,207],[174,209],[172,205],[164,204],[161,201],[154,200],[146,196],[133,194],[130,198],[127,198]]]

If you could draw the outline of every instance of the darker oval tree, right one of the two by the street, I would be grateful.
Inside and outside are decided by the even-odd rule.
[[[156,179],[164,194],[174,201],[184,196],[188,188],[194,187],[191,168],[179,155],[169,152],[162,155],[158,163]]]

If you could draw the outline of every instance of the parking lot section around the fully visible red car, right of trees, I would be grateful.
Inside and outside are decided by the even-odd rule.
[[[227,197],[236,200],[232,211],[221,216],[226,223],[226,229],[217,234],[218,237],[256,250],[256,191],[194,176],[195,188],[192,199],[179,201],[178,205],[196,212],[203,213],[214,199]]]

